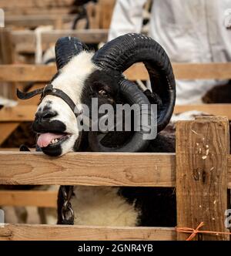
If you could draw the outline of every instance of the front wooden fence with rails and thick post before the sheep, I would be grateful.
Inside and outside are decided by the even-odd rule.
[[[0,184],[176,187],[178,227],[196,228],[204,221],[201,230],[227,232],[229,141],[227,118],[216,116],[177,123],[176,154],[68,153],[54,159],[42,153],[0,152]],[[186,240],[188,236],[177,233],[175,227],[0,227],[0,240]],[[229,240],[229,235],[200,234],[198,238]]]

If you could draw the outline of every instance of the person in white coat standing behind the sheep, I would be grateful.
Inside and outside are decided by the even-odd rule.
[[[109,40],[141,32],[146,0],[117,0]],[[231,0],[153,0],[149,36],[172,62],[231,61]],[[177,80],[176,104],[201,103],[205,93],[228,81]]]

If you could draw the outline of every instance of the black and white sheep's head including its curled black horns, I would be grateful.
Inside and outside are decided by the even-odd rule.
[[[144,62],[158,104],[157,130],[169,123],[176,99],[175,79],[166,52],[154,40],[139,34],[122,35],[92,54],[85,51],[79,39],[63,38],[56,43],[55,57],[58,73],[51,81],[52,86],[67,94],[80,113],[82,104],[91,109],[93,97],[99,99],[99,106],[114,105],[118,95],[130,105],[149,105],[146,95],[122,76],[132,64]],[[42,98],[32,127],[39,133],[38,144],[44,153],[60,156],[78,150],[81,132],[76,116],[60,97]],[[143,140],[142,135],[141,130],[120,147],[105,147],[97,133],[89,132],[89,146],[93,151],[139,152],[149,146],[149,140]]]

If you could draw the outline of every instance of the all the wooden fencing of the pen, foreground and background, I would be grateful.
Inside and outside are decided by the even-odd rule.
[[[71,0],[53,6],[43,0],[46,8],[28,5],[31,1],[14,1],[21,8],[10,8],[3,0],[9,15],[8,26],[32,29],[37,25],[54,25],[54,30],[39,33],[42,50],[59,37],[70,35],[82,42],[105,42],[110,15],[107,0],[89,5],[89,29],[65,29]],[[14,6],[15,6],[14,5]],[[62,5],[62,6],[61,6]],[[26,8],[25,8],[26,7]],[[62,7],[62,8],[60,8]],[[39,15],[38,15],[39,9]],[[19,12],[19,11],[20,12]],[[32,15],[24,16],[29,12]],[[60,15],[57,15],[59,13]],[[36,17],[35,15],[36,14]],[[0,65],[0,83],[6,83],[15,99],[15,89],[32,83],[30,90],[45,86],[56,72],[55,65],[12,64],[12,48],[17,55],[34,54],[38,35],[32,30],[2,29],[0,43],[5,49]],[[0,45],[0,49],[1,49]],[[0,51],[1,52],[1,51]],[[231,79],[231,63],[172,63],[176,79]],[[132,81],[147,80],[149,74],[138,63],[126,71]],[[17,106],[0,109],[0,145],[22,122],[32,122],[39,96]],[[48,157],[39,152],[19,152],[0,149],[0,185],[82,185],[110,187],[175,187],[177,205],[176,227],[93,227],[50,224],[0,224],[0,240],[169,240],[184,241],[199,227],[195,240],[230,240],[226,227],[230,209],[231,155],[229,120],[231,104],[200,104],[175,106],[174,113],[199,110],[211,116],[199,116],[193,121],[176,125],[176,153],[67,153],[63,157]],[[17,151],[16,151],[17,150]],[[58,191],[0,190],[0,206],[57,206]],[[153,206],[155,207],[155,206]],[[169,214],[173,214],[169,212]],[[204,232],[203,232],[204,231]]]

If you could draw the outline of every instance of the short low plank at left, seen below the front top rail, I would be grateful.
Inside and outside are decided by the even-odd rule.
[[[58,191],[0,190],[1,206],[57,207]]]

